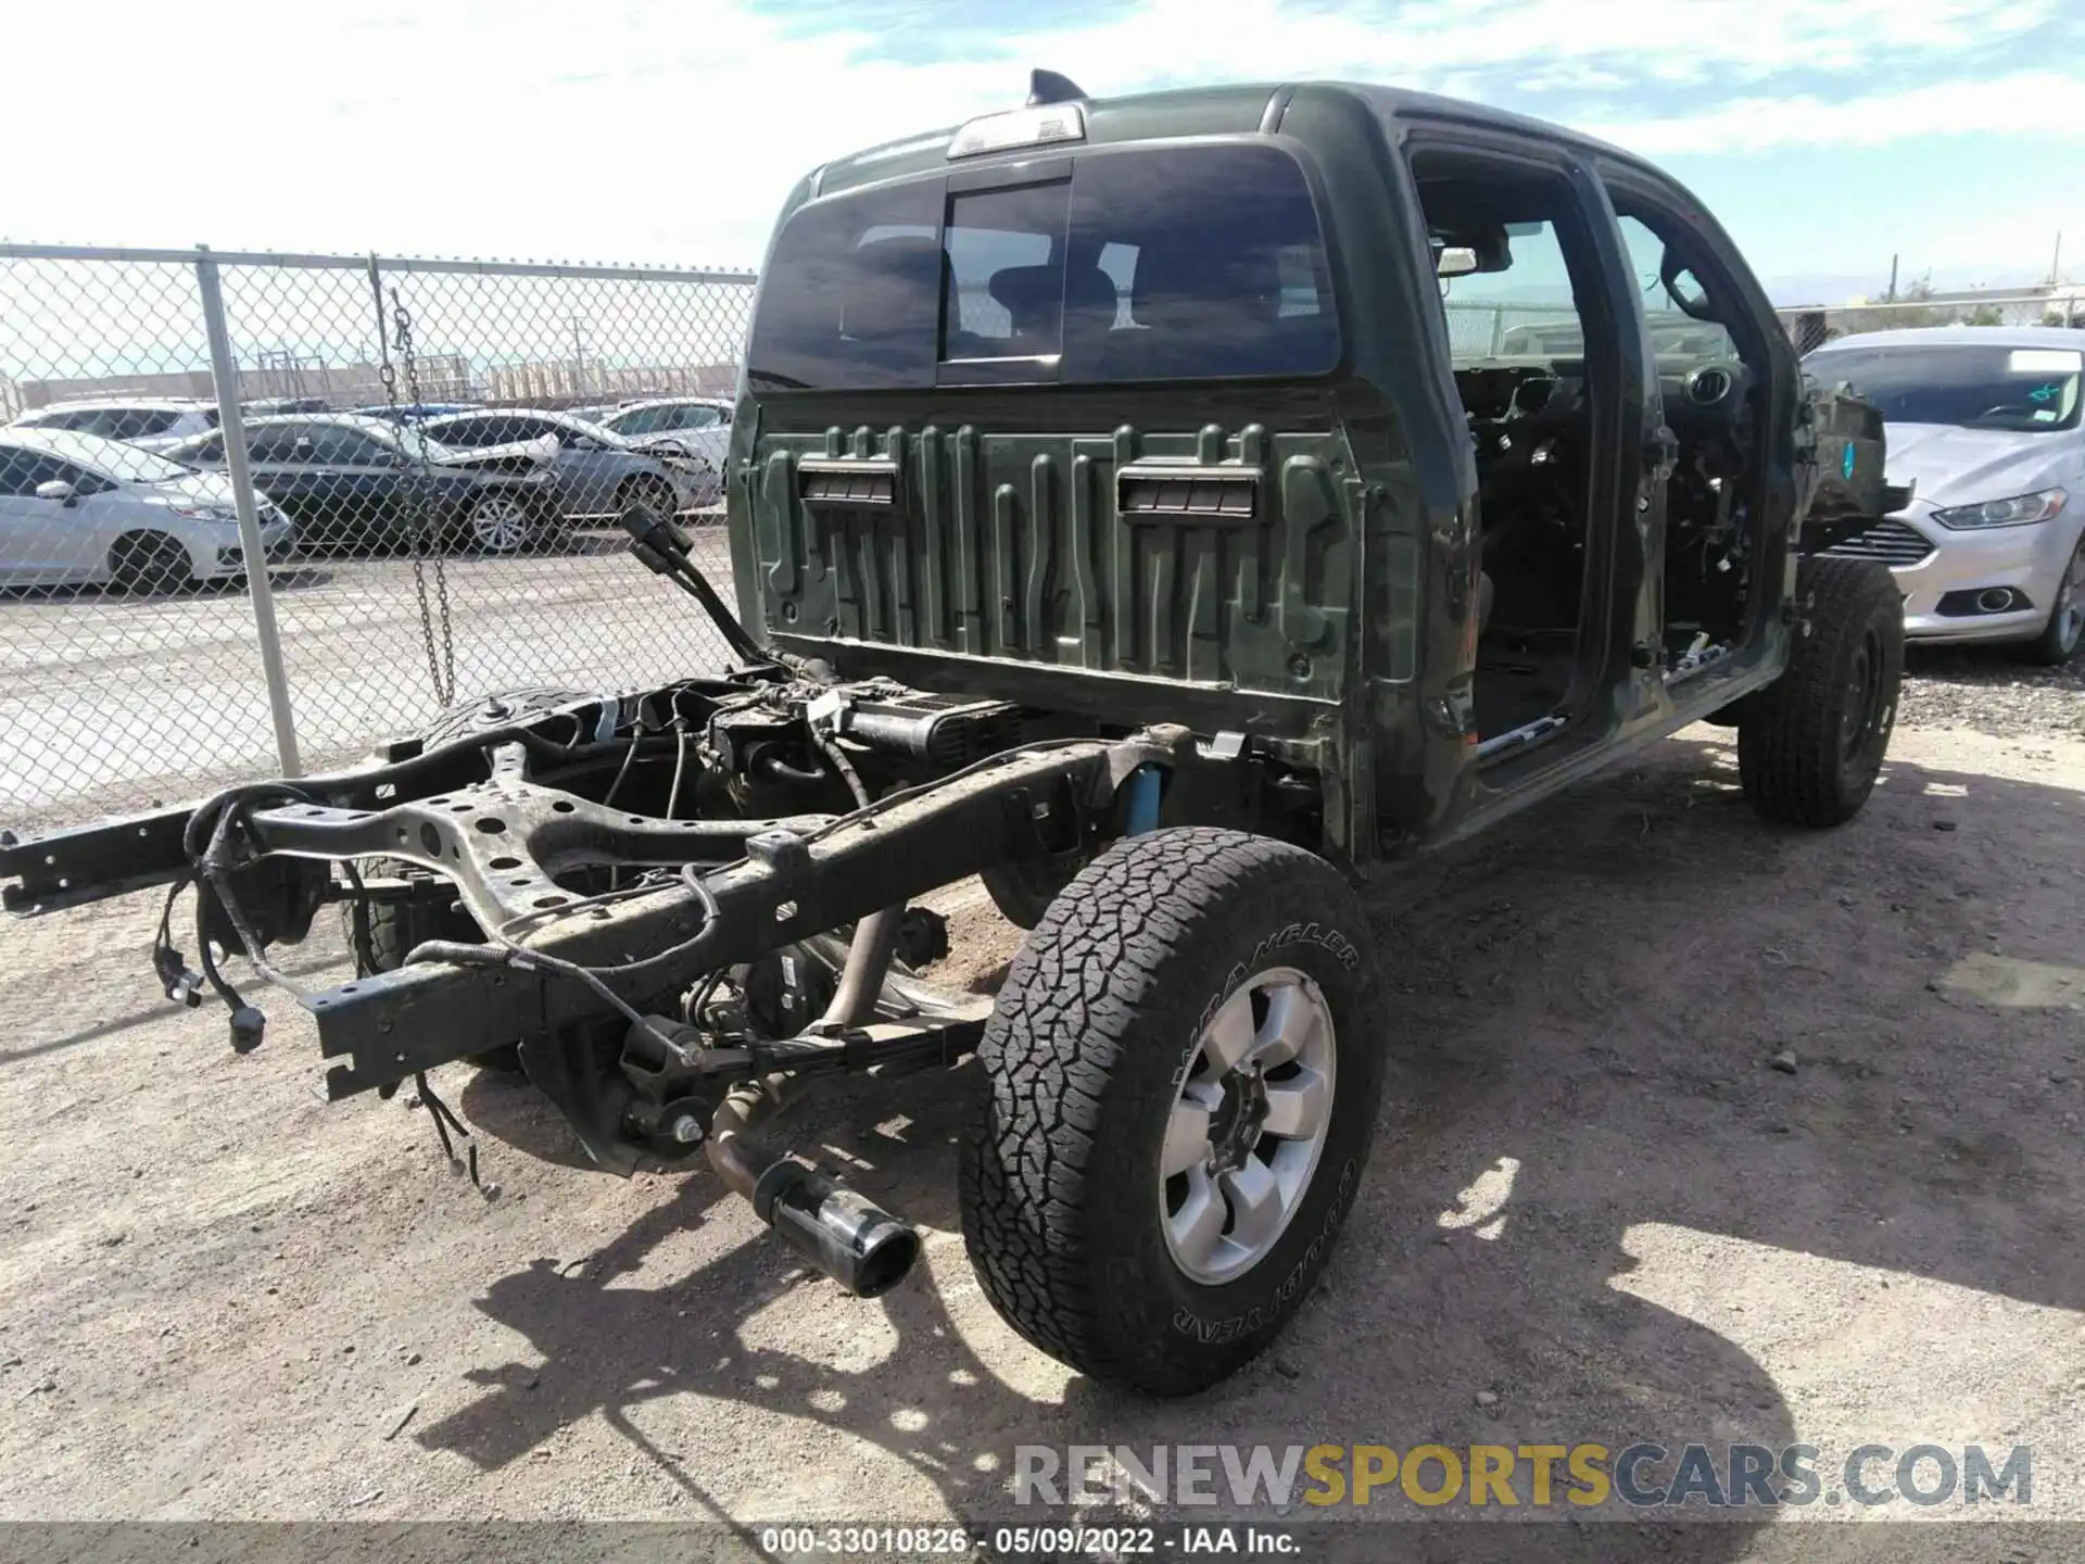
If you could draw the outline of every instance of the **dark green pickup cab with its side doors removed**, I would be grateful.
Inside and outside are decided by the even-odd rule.
[[[1238,734],[1366,865],[1770,682],[1812,446],[1766,294],[1626,152],[1038,73],[790,194],[732,563],[849,678]]]

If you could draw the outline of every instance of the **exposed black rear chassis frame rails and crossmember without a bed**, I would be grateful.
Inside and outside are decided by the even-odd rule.
[[[861,924],[982,870],[1047,857],[1047,836],[1063,842],[1063,828],[1051,824],[1055,813],[1068,809],[1082,822],[1078,834],[1105,830],[1126,780],[1143,765],[1168,774],[1222,765],[1201,757],[1182,728],[1045,738],[899,788],[867,807],[734,820],[665,820],[532,780],[573,765],[575,757],[621,753],[628,763],[632,747],[640,753],[657,747],[661,740],[646,736],[636,715],[646,705],[673,711],[690,699],[742,701],[749,692],[761,697],[763,686],[771,703],[794,709],[811,697],[767,671],[692,682],[634,701],[582,705],[359,772],[236,788],[194,811],[133,815],[27,840],[4,836],[0,876],[13,878],[4,905],[33,915],[125,888],[179,886],[194,876],[208,886],[206,938],[227,951],[244,949],[263,976],[313,1016],[321,1053],[340,1061],[327,1070],[327,1097],[390,1089],[519,1041],[530,1076],[571,1118],[596,1162],[628,1170],[644,1143],[657,1139],[646,1130],[657,1132],[659,1124],[640,1122],[632,1134],[630,1101],[603,1093],[594,1055],[609,1034],[636,1034],[648,1066],[673,1076],[676,1086],[711,1086],[711,1095],[769,1072],[965,1053],[988,1007],[903,978],[886,982],[882,968],[872,982],[880,988],[874,1013],[790,1038],[713,1036],[659,1011],[705,974]],[[849,688],[828,686],[813,697],[821,699],[828,722],[844,711]],[[617,732],[623,711],[632,713],[628,738]],[[809,726],[811,717],[801,722]],[[557,742],[555,734],[567,728],[615,736]],[[371,859],[442,876],[488,938],[430,943],[396,970],[317,993],[273,972],[267,945],[302,938],[321,903],[384,888],[413,895],[396,880],[365,890],[352,867],[346,882],[325,867]],[[671,878],[661,882],[663,872]],[[590,897],[569,888],[575,874],[653,880]],[[419,890],[425,895],[427,886]],[[819,953],[815,943],[807,949]],[[828,936],[824,949],[838,968],[838,940]],[[888,951],[882,961],[888,963]],[[179,968],[163,966],[163,978],[171,997],[194,1003],[200,991],[194,974],[186,974],[186,988]],[[630,1041],[623,1038],[626,1049]],[[673,1105],[667,1089],[651,1120]],[[669,1139],[663,1149],[671,1153],[676,1143]]]

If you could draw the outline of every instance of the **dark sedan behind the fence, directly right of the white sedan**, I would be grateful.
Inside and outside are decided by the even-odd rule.
[[[425,446],[425,450],[423,450]],[[221,469],[223,434],[169,450]],[[557,480],[548,440],[450,450],[417,432],[352,413],[269,417],[246,425],[254,488],[296,521],[306,548],[407,544],[513,555],[557,536]]]

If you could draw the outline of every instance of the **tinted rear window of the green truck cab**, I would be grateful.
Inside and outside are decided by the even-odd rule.
[[[1082,152],[1040,184],[974,177],[799,209],[761,284],[751,386],[1111,384],[1339,363],[1318,213],[1284,150]]]

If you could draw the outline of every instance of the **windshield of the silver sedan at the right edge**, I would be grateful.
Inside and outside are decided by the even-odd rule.
[[[1889,423],[2047,434],[2079,425],[2085,350],[1987,342],[1833,346],[1804,365],[1829,386],[1851,384]]]

